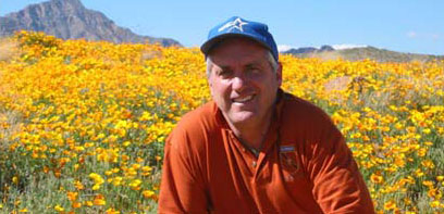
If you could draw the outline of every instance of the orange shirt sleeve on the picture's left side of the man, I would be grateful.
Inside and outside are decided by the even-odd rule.
[[[180,128],[166,138],[159,213],[208,213],[208,197],[192,143]]]

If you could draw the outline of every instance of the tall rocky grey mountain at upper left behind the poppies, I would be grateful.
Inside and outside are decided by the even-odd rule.
[[[107,40],[111,42],[159,42],[181,46],[169,38],[140,36],[120,27],[103,13],[86,9],[79,0],[50,0],[30,4],[24,10],[0,16],[0,37],[15,30],[45,32],[62,39]]]

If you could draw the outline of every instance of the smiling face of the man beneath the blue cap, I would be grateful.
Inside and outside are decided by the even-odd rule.
[[[245,38],[226,39],[209,56],[211,96],[225,119],[236,127],[264,123],[282,83],[281,65],[274,72],[268,50]]]

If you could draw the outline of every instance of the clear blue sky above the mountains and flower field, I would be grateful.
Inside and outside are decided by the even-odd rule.
[[[0,0],[0,15],[45,0]],[[269,25],[278,45],[368,45],[444,55],[442,0],[82,0],[118,25],[186,47],[205,41],[215,24],[239,15]]]

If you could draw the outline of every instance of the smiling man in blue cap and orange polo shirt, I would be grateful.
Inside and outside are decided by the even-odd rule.
[[[213,101],[165,144],[159,213],[373,213],[343,136],[280,89],[264,24],[232,17],[201,46]]]

